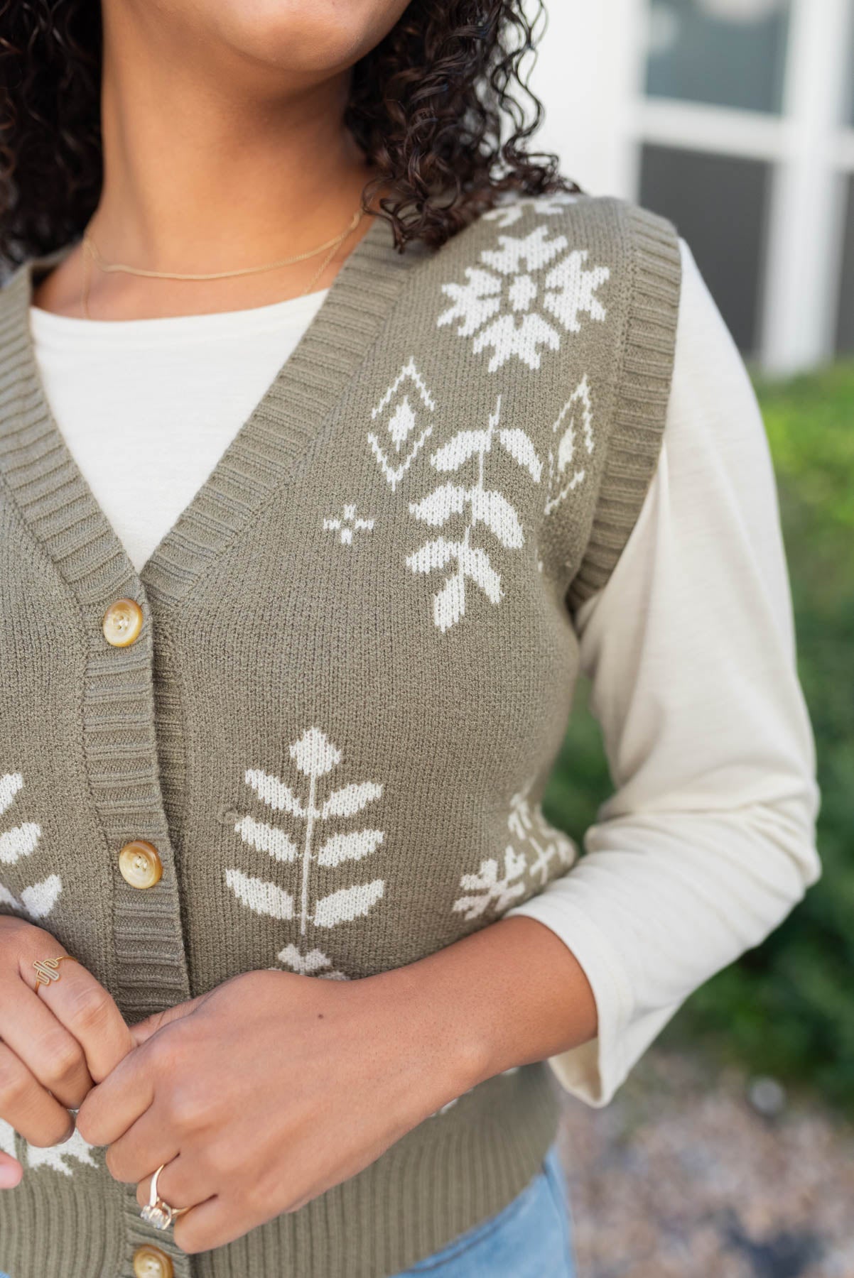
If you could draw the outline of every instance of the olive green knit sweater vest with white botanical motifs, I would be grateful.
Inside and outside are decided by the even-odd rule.
[[[33,359],[33,279],[64,252],[0,291],[0,909],[138,1020],[252,969],[413,962],[571,873],[540,800],[573,610],[657,464],[671,224],[611,197],[522,199],[399,254],[376,221],[139,574]],[[143,625],[113,647],[121,597]],[[146,889],[119,869],[137,838],[162,863]],[[24,1164],[0,1194],[0,1272],[133,1278],[155,1243],[178,1278],[387,1278],[523,1189],[555,1134],[550,1077],[482,1084],[198,1256],[141,1219],[102,1149],[26,1146],[0,1122]]]

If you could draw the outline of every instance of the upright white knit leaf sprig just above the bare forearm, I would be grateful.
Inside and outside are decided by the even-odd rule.
[[[335,869],[371,856],[384,840],[384,832],[373,828],[331,831],[317,840],[318,829],[326,822],[357,817],[369,804],[382,797],[382,785],[376,781],[355,781],[330,790],[323,797],[320,789],[341,762],[341,751],[318,727],[308,727],[289,748],[295,771],[306,778],[303,792],[289,786],[280,777],[256,768],[248,768],[244,780],[267,806],[284,812],[291,818],[291,827],[258,822],[251,815],[240,817],[234,829],[244,843],[266,852],[280,864],[298,863],[297,891],[290,892],[279,883],[253,878],[233,868],[225,872],[225,882],[237,898],[256,914],[275,919],[299,919],[299,934],[306,938],[312,928],[336,928],[364,918],[381,900],[385,879],[369,883],[352,883],[320,898],[314,897],[316,865]],[[293,943],[279,951],[279,962],[302,975],[343,979],[334,969],[331,958],[322,950],[306,951]]]

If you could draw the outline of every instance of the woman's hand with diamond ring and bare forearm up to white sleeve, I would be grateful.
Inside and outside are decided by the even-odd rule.
[[[118,1181],[207,1251],[354,1176],[483,1079],[587,1042],[593,994],[533,919],[495,923],[392,971],[234,976],[132,1026],[139,1044],[81,1107]],[[441,1122],[441,1118],[436,1120]]]

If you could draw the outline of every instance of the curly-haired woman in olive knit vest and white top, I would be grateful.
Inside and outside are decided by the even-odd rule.
[[[819,873],[731,339],[516,0],[0,23],[0,1269],[570,1274],[548,1079]]]

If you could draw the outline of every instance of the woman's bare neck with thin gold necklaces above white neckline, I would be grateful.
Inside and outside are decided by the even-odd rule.
[[[155,6],[156,8],[156,6]],[[91,233],[106,261],[211,273],[303,253],[343,231],[371,176],[344,125],[348,73],[295,83],[146,6],[104,6],[104,183]],[[304,81],[304,77],[303,77]],[[331,282],[369,219],[340,245]],[[150,280],[91,268],[95,318],[238,311],[302,293],[322,257],[216,281]],[[81,314],[75,247],[35,302]]]

